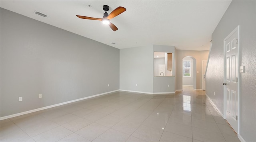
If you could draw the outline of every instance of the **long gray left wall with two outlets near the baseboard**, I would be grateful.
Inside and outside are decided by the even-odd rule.
[[[3,8],[0,30],[1,117],[119,89],[117,48]]]

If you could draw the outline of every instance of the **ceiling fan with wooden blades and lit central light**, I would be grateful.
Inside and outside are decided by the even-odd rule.
[[[107,11],[109,10],[109,6],[104,5],[103,10],[105,11],[105,13],[103,14],[103,18],[93,18],[93,17],[80,16],[80,15],[76,15],[76,16],[78,18],[81,18],[81,19],[100,20],[100,21],[102,21],[103,24],[109,25],[110,28],[112,28],[112,30],[114,30],[114,31],[118,30],[118,28],[110,22],[110,19],[112,19],[112,18],[118,16],[119,14],[123,13],[126,10],[126,8],[124,8],[122,6],[119,6],[118,8],[113,10],[109,15],[107,13]]]

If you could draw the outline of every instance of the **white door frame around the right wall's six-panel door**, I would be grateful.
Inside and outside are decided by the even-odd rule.
[[[234,34],[234,32],[238,33],[238,52],[237,52],[237,56],[238,56],[238,82],[237,82],[237,89],[238,89],[238,94],[237,94],[237,98],[238,98],[238,120],[237,120],[237,135],[240,134],[240,73],[239,73],[239,66],[240,66],[240,29],[239,29],[239,25],[230,33],[228,34],[228,36],[223,40],[224,42],[224,82],[226,81],[226,40],[232,35]],[[224,98],[223,98],[223,102],[224,102],[224,119],[226,119],[226,86],[224,85]]]

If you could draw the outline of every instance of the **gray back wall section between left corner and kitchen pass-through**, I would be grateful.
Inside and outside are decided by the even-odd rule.
[[[153,45],[120,49],[120,90],[152,93],[153,63]]]

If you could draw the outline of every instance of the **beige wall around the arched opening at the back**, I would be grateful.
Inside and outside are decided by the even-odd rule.
[[[192,56],[193,58],[196,59],[196,84],[194,83],[194,89],[202,89],[202,60],[208,60],[208,54],[209,54],[209,50],[205,50],[205,51],[176,50],[175,52],[175,58],[176,58],[175,89],[176,90],[182,90],[182,60],[186,56]]]

